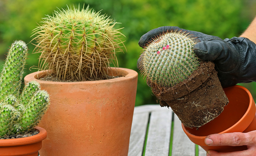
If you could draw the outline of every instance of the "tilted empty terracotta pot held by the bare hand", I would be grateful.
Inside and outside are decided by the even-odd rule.
[[[199,127],[198,130],[187,128],[183,124],[182,128],[192,142],[206,151],[231,152],[246,150],[247,146],[208,146],[204,142],[205,137],[210,134],[256,130],[256,108],[251,93],[246,88],[238,85],[224,88],[224,92],[228,97],[229,103],[218,117]]]

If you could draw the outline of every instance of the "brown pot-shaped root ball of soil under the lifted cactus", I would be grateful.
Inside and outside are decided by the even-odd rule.
[[[171,107],[190,128],[198,128],[216,118],[228,104],[212,62],[202,62],[187,80],[176,86],[152,88],[152,92],[162,107]]]

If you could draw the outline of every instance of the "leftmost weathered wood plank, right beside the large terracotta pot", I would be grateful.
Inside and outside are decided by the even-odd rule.
[[[128,156],[141,156],[143,153],[149,112],[134,114]]]

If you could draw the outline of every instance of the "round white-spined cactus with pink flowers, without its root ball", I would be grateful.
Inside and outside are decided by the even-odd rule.
[[[142,50],[142,75],[151,86],[172,87],[187,79],[200,60],[193,52],[196,38],[186,32],[167,31]]]

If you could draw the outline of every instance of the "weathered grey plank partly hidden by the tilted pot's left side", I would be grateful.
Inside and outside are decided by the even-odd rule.
[[[172,156],[195,156],[195,146],[183,131],[179,118],[174,115]]]

